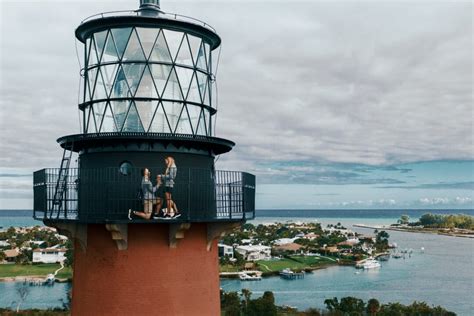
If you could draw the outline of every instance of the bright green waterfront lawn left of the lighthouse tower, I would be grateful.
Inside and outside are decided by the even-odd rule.
[[[0,278],[33,275],[46,277],[46,275],[48,275],[49,273],[53,273],[59,268],[60,265],[56,263],[34,265],[2,264],[0,265]],[[59,279],[72,278],[72,268],[65,267],[64,269],[58,272],[56,277]]]

